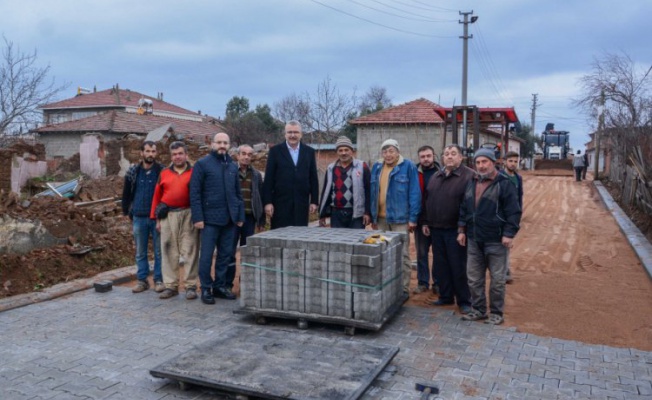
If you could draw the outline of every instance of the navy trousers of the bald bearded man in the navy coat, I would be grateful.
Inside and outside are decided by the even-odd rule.
[[[231,258],[234,257],[235,230],[233,226],[231,222],[224,226],[205,224],[204,229],[201,230],[199,282],[202,290],[228,288],[233,282],[233,277],[231,277],[231,281],[228,281],[228,267]],[[215,279],[213,279],[211,265],[215,247],[217,247],[217,258],[215,259]]]

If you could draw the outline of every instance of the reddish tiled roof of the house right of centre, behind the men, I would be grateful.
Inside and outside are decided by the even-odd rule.
[[[373,114],[365,115],[349,121],[353,125],[363,124],[441,124],[442,119],[434,111],[440,107],[437,103],[420,98],[385,108]]]

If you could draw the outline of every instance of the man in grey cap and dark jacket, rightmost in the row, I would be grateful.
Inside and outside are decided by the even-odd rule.
[[[467,247],[466,273],[473,307],[462,319],[500,325],[505,304],[507,250],[519,229],[521,207],[516,187],[496,170],[493,150],[481,148],[473,160],[477,175],[466,185],[457,224],[457,242]],[[491,276],[489,310],[487,270]]]

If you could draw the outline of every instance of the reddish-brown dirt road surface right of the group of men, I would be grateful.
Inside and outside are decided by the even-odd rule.
[[[593,185],[525,174],[524,191],[505,325],[652,350],[652,281]],[[417,295],[410,304],[426,306],[429,298]]]

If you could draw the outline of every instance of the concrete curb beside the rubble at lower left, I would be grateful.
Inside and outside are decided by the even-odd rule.
[[[75,292],[90,289],[97,281],[113,281],[114,284],[125,283],[136,277],[136,267],[124,267],[99,273],[91,278],[77,279],[72,282],[59,283],[40,292],[19,294],[0,300],[0,312],[13,310],[42,301],[56,299]]]

